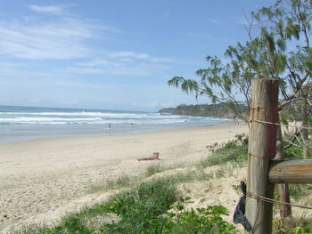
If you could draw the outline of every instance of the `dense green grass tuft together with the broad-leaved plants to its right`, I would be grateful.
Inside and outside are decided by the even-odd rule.
[[[108,224],[105,233],[234,233],[234,226],[221,218],[221,214],[226,214],[223,206],[186,211],[184,203],[189,198],[179,198],[173,206],[177,201],[176,182],[177,179],[157,180],[117,195],[106,209],[120,220]]]

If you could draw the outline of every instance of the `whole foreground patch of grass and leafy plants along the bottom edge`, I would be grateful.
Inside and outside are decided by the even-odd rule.
[[[188,198],[178,198],[176,182],[154,180],[144,182],[134,190],[119,193],[106,203],[68,214],[52,228],[32,227],[15,233],[234,233],[234,226],[221,218],[221,214],[226,214],[225,207],[209,206],[187,211],[184,207],[186,200]]]

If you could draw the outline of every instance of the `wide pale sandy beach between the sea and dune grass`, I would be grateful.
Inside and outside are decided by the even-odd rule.
[[[152,164],[190,165],[208,156],[207,145],[247,132],[246,125],[231,124],[0,143],[0,230],[57,222],[114,192],[90,193],[94,186],[122,174],[140,176]],[[160,161],[135,159],[155,151]]]

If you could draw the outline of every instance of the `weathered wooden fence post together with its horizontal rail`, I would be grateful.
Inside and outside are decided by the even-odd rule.
[[[272,199],[277,183],[312,183],[312,160],[272,160],[279,123],[278,84],[278,79],[251,81],[247,194],[252,196],[246,198],[246,218],[253,234],[272,233],[273,204],[258,198]]]

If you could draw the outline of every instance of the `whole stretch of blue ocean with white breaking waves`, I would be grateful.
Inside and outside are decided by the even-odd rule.
[[[0,106],[0,142],[223,125],[232,119],[153,112]]]

